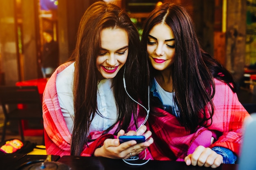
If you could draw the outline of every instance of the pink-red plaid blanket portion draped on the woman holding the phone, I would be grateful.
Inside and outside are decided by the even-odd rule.
[[[48,80],[43,94],[43,123],[45,129],[45,147],[48,155],[70,155],[72,134],[70,134],[61,112],[55,84],[56,75],[70,64],[71,62],[62,64],[56,69]],[[131,120],[133,120],[133,117]],[[116,129],[117,125],[106,135],[102,135],[103,131],[91,132],[88,139],[96,140],[89,142],[88,146],[84,147],[81,156],[93,155],[94,150],[98,146],[102,146],[107,138],[116,138],[113,135]],[[134,121],[131,121],[128,130],[136,130]]]

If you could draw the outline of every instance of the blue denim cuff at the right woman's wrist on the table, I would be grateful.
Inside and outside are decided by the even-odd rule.
[[[223,163],[236,163],[237,157],[231,150],[219,146],[215,146],[211,148],[211,150],[215,151],[223,157]]]

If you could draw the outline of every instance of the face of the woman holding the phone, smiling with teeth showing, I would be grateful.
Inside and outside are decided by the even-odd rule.
[[[101,48],[97,57],[97,68],[104,78],[114,78],[128,57],[128,34],[119,28],[101,31]]]

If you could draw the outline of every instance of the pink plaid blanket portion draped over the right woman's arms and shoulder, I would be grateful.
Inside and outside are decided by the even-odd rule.
[[[175,116],[155,108],[164,116],[150,115],[146,124],[153,133],[154,143],[149,147],[153,159],[184,161],[184,157],[193,153],[199,145],[210,148],[220,146],[239,155],[243,121],[250,116],[229,86],[217,79],[215,83],[215,110],[213,123],[209,127],[201,127],[196,132],[186,131]],[[215,138],[212,145],[211,137]]]

